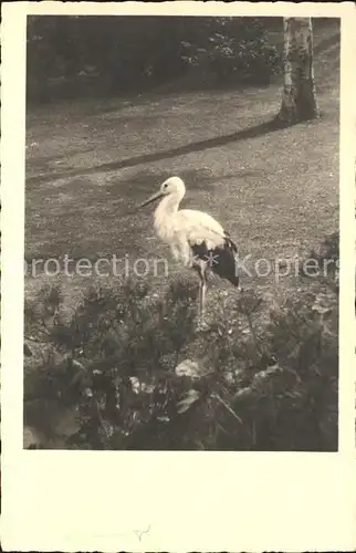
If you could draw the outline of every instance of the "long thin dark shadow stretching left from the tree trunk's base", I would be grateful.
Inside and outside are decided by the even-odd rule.
[[[208,138],[207,140],[200,140],[192,144],[187,144],[186,146],[179,146],[178,148],[172,148],[164,152],[156,152],[154,154],[143,154],[140,156],[135,156],[128,159],[123,159],[122,161],[112,161],[108,164],[102,164],[93,168],[83,169],[69,169],[56,173],[46,173],[44,175],[32,176],[27,178],[27,182],[43,182],[46,180],[55,180],[57,178],[65,178],[78,175],[93,175],[95,173],[103,173],[106,170],[117,170],[127,167],[135,167],[136,165],[148,164],[151,161],[159,161],[161,159],[169,159],[177,156],[184,156],[191,154],[192,152],[203,152],[209,148],[217,148],[219,146],[226,146],[227,144],[239,142],[248,138],[254,138],[256,136],[262,136],[273,131],[280,131],[284,126],[276,119],[260,123],[253,127],[248,127],[237,133],[232,133],[224,136],[218,136],[216,138]]]

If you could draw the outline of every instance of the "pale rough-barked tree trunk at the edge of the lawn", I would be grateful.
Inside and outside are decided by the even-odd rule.
[[[278,118],[289,125],[317,117],[311,18],[284,18],[284,86]]]

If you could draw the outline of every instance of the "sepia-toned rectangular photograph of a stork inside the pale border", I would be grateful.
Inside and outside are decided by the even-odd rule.
[[[29,15],[23,447],[337,451],[341,20]]]

